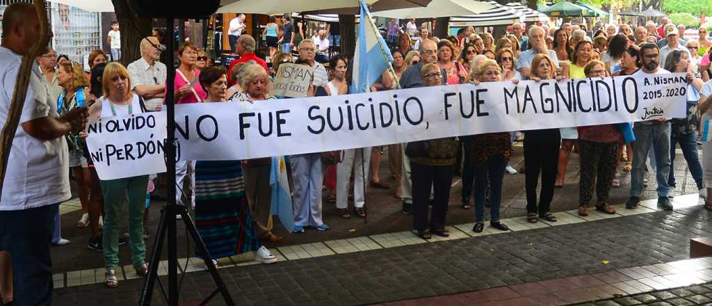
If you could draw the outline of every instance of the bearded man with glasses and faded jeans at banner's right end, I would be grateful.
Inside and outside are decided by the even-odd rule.
[[[644,43],[640,46],[640,61],[642,67],[633,75],[654,75],[670,73],[659,67],[660,51],[654,43]],[[673,209],[668,194],[668,176],[670,174],[670,122],[665,118],[635,122],[633,125],[635,142],[633,142],[633,169],[631,172],[630,199],[626,209],[635,209],[643,192],[643,176],[645,161],[650,149],[655,152],[656,179],[658,182],[658,206],[666,211]]]

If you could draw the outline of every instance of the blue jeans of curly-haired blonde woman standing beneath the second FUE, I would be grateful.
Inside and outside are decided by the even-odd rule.
[[[490,186],[490,221],[499,221],[499,206],[502,202],[502,181],[506,166],[504,155],[498,154],[487,157],[487,161],[484,164],[475,168],[475,222],[485,221],[485,191],[488,178]]]

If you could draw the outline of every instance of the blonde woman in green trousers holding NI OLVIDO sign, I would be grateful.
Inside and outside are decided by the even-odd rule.
[[[139,96],[131,92],[131,81],[126,68],[118,62],[111,62],[102,75],[103,99],[97,100],[89,109],[89,119],[99,117],[130,116],[142,112]],[[86,134],[82,133],[82,137]],[[104,195],[103,251],[106,265],[105,285],[115,288],[119,285],[116,270],[119,267],[118,243],[122,214],[122,203],[128,197],[129,236],[131,262],[136,274],[145,276],[146,246],[143,240],[143,216],[145,211],[148,175],[101,181]]]

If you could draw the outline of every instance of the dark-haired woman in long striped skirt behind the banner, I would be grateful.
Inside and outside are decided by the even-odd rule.
[[[256,66],[265,73],[261,66]],[[204,102],[227,102],[225,68],[206,68],[199,81],[208,94]],[[277,258],[260,245],[255,231],[258,224],[253,223],[248,204],[244,169],[239,160],[195,163],[195,226],[213,260],[255,251],[256,261],[275,263]],[[264,184],[269,188],[269,181]]]

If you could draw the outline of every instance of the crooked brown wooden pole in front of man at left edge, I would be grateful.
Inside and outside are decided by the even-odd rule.
[[[30,83],[30,75],[32,74],[32,65],[35,58],[41,56],[43,51],[45,51],[47,43],[49,42],[49,36],[47,35],[49,26],[45,1],[34,0],[33,3],[37,13],[37,20],[40,23],[40,39],[32,46],[30,51],[22,57],[20,70],[15,80],[15,90],[12,94],[7,120],[0,133],[0,143],[2,144],[2,147],[0,147],[0,156],[2,157],[2,161],[0,161],[0,198],[2,197],[2,186],[5,182],[6,166],[10,157],[10,150],[12,149],[12,141],[15,139],[17,127],[20,125],[20,116],[22,115],[22,108],[25,104],[27,88]]]

